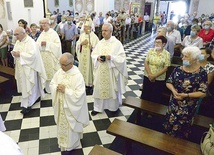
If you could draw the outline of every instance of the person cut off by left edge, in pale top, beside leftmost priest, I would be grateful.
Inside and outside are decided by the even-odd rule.
[[[7,61],[7,33],[3,31],[3,26],[0,24],[0,58],[3,66],[8,66]]]

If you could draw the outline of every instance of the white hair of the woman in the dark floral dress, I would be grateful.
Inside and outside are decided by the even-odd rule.
[[[201,50],[196,46],[188,46],[183,49],[182,54],[190,54],[190,57],[196,60],[201,54]]]

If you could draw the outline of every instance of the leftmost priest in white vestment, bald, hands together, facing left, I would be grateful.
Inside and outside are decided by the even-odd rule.
[[[40,97],[44,97],[47,79],[40,52],[35,41],[22,27],[16,28],[17,41],[11,54],[15,62],[15,79],[17,90],[22,93],[21,113],[26,114]]]

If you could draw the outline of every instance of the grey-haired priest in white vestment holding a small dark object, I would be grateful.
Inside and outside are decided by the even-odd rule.
[[[126,54],[121,42],[112,36],[112,31],[110,23],[102,26],[103,39],[91,54],[94,62],[93,116],[104,109],[117,111],[122,104],[122,94],[126,92]]]

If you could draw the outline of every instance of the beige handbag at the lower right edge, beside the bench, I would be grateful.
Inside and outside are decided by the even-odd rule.
[[[203,155],[214,155],[214,125],[210,124],[209,131],[203,133],[200,145]]]

